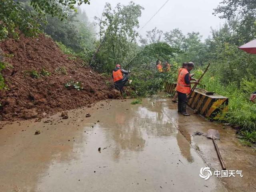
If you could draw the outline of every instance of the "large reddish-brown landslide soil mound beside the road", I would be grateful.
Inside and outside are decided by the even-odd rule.
[[[119,96],[116,90],[106,85],[110,79],[89,67],[82,67],[79,59],[70,60],[52,39],[44,35],[38,38],[20,36],[17,41],[8,39],[0,42],[0,48],[7,56],[6,62],[10,64],[3,74],[22,83],[35,96],[35,100],[32,100],[28,90],[5,77],[8,90],[0,91],[1,120],[42,118],[54,112]],[[60,68],[66,69],[67,74],[59,73],[57,69]],[[32,78],[29,74],[32,70],[40,73],[42,69],[51,75]],[[67,89],[64,84],[70,80],[82,82],[84,89]]]

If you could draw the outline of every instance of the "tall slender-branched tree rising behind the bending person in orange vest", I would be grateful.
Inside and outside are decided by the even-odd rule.
[[[127,63],[136,54],[138,32],[135,29],[139,27],[142,10],[142,6],[134,2],[118,3],[114,9],[106,3],[102,18],[95,18],[100,28],[100,41],[96,43],[100,50],[91,62],[95,70],[111,72],[115,64]]]

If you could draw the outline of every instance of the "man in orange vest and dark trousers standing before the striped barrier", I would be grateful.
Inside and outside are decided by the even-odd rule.
[[[190,116],[186,112],[187,94],[190,94],[191,84],[198,84],[198,81],[191,82],[190,71],[194,68],[193,62],[188,62],[187,68],[182,68],[178,77],[176,90],[178,92],[178,113],[184,116]]]

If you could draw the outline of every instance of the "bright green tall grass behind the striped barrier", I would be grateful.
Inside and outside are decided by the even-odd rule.
[[[201,70],[196,71],[198,77]],[[249,98],[256,90],[256,80],[242,79],[239,83],[232,82],[224,85],[218,75],[206,73],[199,85],[208,91],[216,92],[229,98],[228,111],[219,114],[215,119],[240,126],[242,131],[256,131],[256,104]]]

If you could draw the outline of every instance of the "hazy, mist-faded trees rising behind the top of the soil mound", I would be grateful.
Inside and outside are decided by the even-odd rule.
[[[74,52],[83,52],[94,48],[94,28],[88,21],[86,13],[78,8],[74,12],[70,8],[63,8],[67,18],[47,16],[47,24],[42,23],[42,29],[55,41],[62,42]]]

